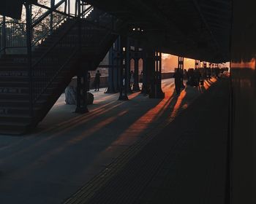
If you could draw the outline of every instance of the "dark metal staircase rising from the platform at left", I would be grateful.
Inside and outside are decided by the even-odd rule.
[[[95,70],[105,57],[117,38],[111,27],[113,18],[97,9],[86,12],[86,18],[59,16],[54,29],[34,42],[31,40],[26,54],[1,55],[0,134],[32,130],[72,77],[83,71],[84,66]]]

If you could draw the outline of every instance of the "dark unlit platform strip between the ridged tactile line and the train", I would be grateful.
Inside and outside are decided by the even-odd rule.
[[[227,109],[225,80],[175,120],[169,117],[164,128],[127,150],[65,204],[225,203]]]

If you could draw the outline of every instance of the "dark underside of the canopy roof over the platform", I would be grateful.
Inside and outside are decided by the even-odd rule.
[[[220,63],[230,60],[231,0],[88,0],[143,29],[162,52]]]

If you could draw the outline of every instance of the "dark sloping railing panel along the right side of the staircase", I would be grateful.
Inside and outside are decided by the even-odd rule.
[[[40,96],[78,52],[78,36],[73,32],[77,25],[78,22],[72,23],[58,41],[32,65],[33,104],[37,103]]]

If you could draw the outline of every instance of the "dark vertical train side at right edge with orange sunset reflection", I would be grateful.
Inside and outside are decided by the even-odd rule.
[[[231,193],[234,204],[256,203],[256,4],[233,1],[231,63]]]

